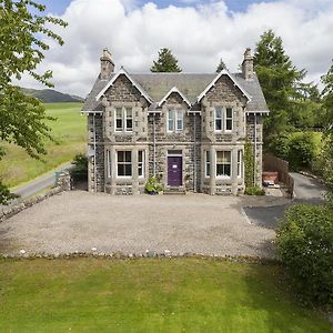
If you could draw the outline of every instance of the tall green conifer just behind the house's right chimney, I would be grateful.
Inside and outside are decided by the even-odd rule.
[[[264,124],[265,138],[270,141],[291,129],[290,114],[306,72],[295,68],[284,52],[282,39],[272,30],[264,32],[256,43],[254,70],[271,111]]]

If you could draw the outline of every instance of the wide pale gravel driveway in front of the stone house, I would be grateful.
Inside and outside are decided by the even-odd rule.
[[[0,223],[0,253],[184,252],[273,256],[273,230],[250,224],[241,198],[63,192]]]

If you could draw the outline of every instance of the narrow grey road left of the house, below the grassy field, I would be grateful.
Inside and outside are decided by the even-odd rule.
[[[42,176],[29,182],[28,184],[16,189],[13,191],[13,193],[19,194],[21,199],[29,198],[49,186],[54,185],[56,172],[63,171],[65,169],[69,169],[70,167],[71,167],[71,163],[62,164],[61,167],[57,168],[52,172],[49,172],[46,175],[42,175]]]

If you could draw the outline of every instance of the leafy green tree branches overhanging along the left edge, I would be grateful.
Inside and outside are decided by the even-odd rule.
[[[37,67],[49,49],[46,40],[63,43],[60,36],[50,30],[50,24],[65,27],[57,18],[42,16],[46,7],[32,0],[0,0],[0,135],[2,141],[22,147],[30,157],[40,159],[46,154],[44,139],[51,139],[51,129],[46,124],[44,107],[32,97],[24,95],[13,79],[23,73],[38,82],[53,87],[49,81],[51,71],[38,73]],[[4,152],[1,151],[1,158]],[[12,195],[0,182],[0,203],[7,203]]]

